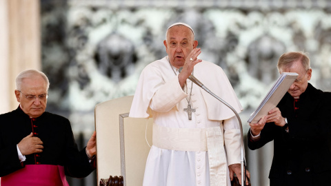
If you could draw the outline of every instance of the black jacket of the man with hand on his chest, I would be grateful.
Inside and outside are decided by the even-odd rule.
[[[26,156],[20,163],[17,144],[31,132],[43,141],[43,152]],[[83,178],[95,168],[89,163],[85,148],[79,152],[70,122],[57,114],[44,112],[30,118],[21,110],[0,115],[0,176],[6,176],[25,165],[62,165],[67,176]]]

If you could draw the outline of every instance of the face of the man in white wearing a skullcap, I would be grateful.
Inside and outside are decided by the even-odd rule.
[[[163,41],[171,65],[180,68],[190,52],[197,48],[198,41],[193,40],[193,32],[185,25],[174,25],[168,30],[167,40]]]

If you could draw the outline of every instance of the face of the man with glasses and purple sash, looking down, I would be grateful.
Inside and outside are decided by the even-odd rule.
[[[19,92],[21,91],[21,92]],[[17,101],[24,113],[37,118],[46,110],[47,84],[41,76],[23,79],[21,90],[15,90]]]

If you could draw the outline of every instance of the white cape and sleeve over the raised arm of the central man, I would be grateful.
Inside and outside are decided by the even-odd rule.
[[[150,110],[168,112],[188,96],[179,85],[178,75],[165,81],[163,73],[159,68],[150,65],[141,72],[130,108],[130,117],[148,118],[152,114]]]

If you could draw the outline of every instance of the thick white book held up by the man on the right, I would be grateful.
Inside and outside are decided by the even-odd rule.
[[[297,79],[298,74],[295,72],[283,72],[276,83],[271,87],[268,94],[261,101],[257,110],[255,110],[248,119],[248,123],[257,123],[260,118],[268,115],[268,112],[276,107],[288,91],[293,81]]]

